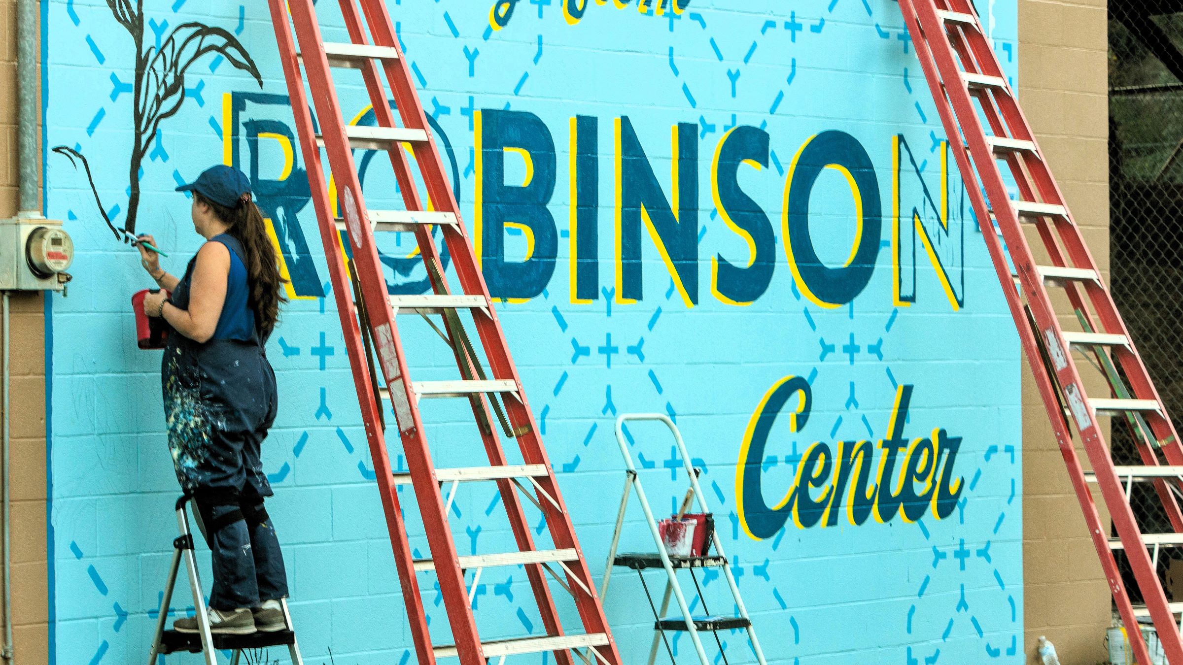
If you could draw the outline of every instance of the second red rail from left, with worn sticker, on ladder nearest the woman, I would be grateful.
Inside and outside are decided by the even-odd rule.
[[[422,420],[416,406],[411,403],[411,399],[415,394],[414,386],[411,383],[406,355],[386,292],[386,280],[382,278],[377,246],[362,199],[361,183],[354,164],[349,138],[345,135],[344,120],[329,72],[329,62],[324,53],[324,41],[321,37],[316,12],[312,8],[312,0],[289,0],[289,6],[303,54],[304,72],[312,91],[317,116],[321,118],[325,151],[340,193],[341,208],[347,220],[347,234],[354,252],[354,265],[357,266],[362,297],[368,305],[367,311],[374,330],[379,361],[390,392],[395,419],[402,438],[403,453],[407,458],[407,467],[413,478],[434,478],[434,466],[424,434]],[[312,144],[316,144],[315,141]],[[397,149],[397,146],[392,146],[392,148]],[[321,224],[324,226],[324,221]],[[367,427],[375,425],[374,421],[367,422]],[[382,454],[384,456],[386,452],[383,451]],[[380,482],[393,483],[389,469],[382,473]],[[435,564],[440,592],[448,609],[448,624],[460,661],[464,665],[484,665],[484,652],[477,634],[476,620],[467,609],[470,601],[464,570],[460,569],[452,530],[444,512],[442,496],[437,488],[435,491],[416,491],[415,498],[419,502],[419,510],[427,531],[427,542]],[[414,580],[414,576],[412,575],[409,579]],[[431,648],[428,645],[428,650]],[[420,658],[422,657],[421,652]]]

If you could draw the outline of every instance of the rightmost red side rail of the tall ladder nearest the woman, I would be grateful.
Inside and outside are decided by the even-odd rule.
[[[394,26],[390,24],[390,18],[386,13],[381,0],[361,0],[361,6],[366,14],[370,33],[374,35],[375,43],[400,49],[394,32]],[[401,71],[392,71],[395,67]],[[403,127],[425,130],[428,129],[426,115],[419,102],[419,96],[415,92],[414,85],[412,84],[409,65],[407,64],[406,58],[400,57],[396,63],[388,63],[386,69],[388,82],[394,93],[395,105],[397,106],[403,121]],[[424,174],[424,181],[427,186],[431,200],[439,207],[439,209],[453,211],[457,214],[457,228],[453,231],[445,230],[445,239],[448,252],[452,256],[452,263],[455,267],[457,276],[460,279],[460,284],[464,286],[464,292],[479,293],[487,298],[489,289],[485,285],[484,276],[477,265],[472,243],[467,237],[463,221],[460,221],[459,206],[457,205],[455,196],[453,195],[447,179],[444,175],[444,164],[439,150],[437,149],[434,142],[427,142],[414,146],[414,153],[415,161],[419,163]],[[550,503],[549,498],[539,497],[542,498],[539,503],[544,506],[544,515],[555,541],[555,545],[564,549],[575,549],[578,555],[576,566],[568,567],[568,576],[571,577],[570,573],[574,573],[574,577],[570,580],[573,582],[570,583],[570,588],[573,589],[580,616],[589,633],[595,632],[608,635],[608,659],[612,665],[618,665],[620,663],[620,656],[616,651],[615,640],[608,628],[608,621],[605,618],[603,608],[595,592],[595,583],[592,579],[592,573],[587,567],[587,560],[578,545],[578,541],[575,536],[575,529],[568,517],[569,512],[567,511],[562,495],[558,491],[558,485],[555,480],[550,460],[548,459],[545,448],[538,438],[538,428],[535,424],[534,414],[526,402],[524,390],[522,389],[521,377],[518,376],[517,369],[511,359],[509,344],[505,342],[505,337],[502,334],[502,328],[497,321],[496,312],[493,312],[490,308],[490,316],[478,317],[476,319],[476,327],[486,349],[492,375],[496,379],[512,380],[518,387],[518,399],[505,400],[505,408],[515,431],[524,432],[518,435],[518,439],[523,458],[526,464],[543,464],[548,470],[548,474],[538,478],[537,482],[542,486],[542,490],[558,504],[558,508],[555,508]],[[581,590],[583,593],[580,593]]]

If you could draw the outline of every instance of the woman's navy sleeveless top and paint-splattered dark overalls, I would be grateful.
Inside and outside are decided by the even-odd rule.
[[[279,541],[263,508],[263,498],[273,492],[259,459],[276,419],[276,375],[250,306],[243,246],[228,234],[211,241],[231,254],[218,327],[205,343],[169,335],[161,381],[176,478],[194,497],[213,554],[209,605],[230,611],[286,598],[287,581]],[[180,309],[189,306],[195,262],[170,298]]]

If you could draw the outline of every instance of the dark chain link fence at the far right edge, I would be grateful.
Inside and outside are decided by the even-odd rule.
[[[1111,286],[1168,413],[1183,424],[1183,1],[1110,0],[1108,12]],[[1130,428],[1112,424],[1114,463],[1143,464]],[[1175,530],[1150,484],[1134,484],[1131,505],[1144,532]],[[1183,548],[1161,550],[1158,572],[1183,602]]]

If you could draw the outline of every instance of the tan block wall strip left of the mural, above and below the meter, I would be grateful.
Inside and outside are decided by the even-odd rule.
[[[18,200],[15,26],[15,1],[0,0],[0,217]],[[17,661],[34,665],[49,658],[45,319],[40,293],[14,293],[11,306],[13,638]]]

